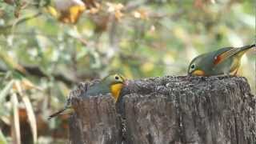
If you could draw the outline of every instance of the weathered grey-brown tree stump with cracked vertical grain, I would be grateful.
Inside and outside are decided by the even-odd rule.
[[[81,87],[80,87],[81,89]],[[110,96],[74,94],[70,143],[254,144],[256,98],[246,78],[163,77]]]

